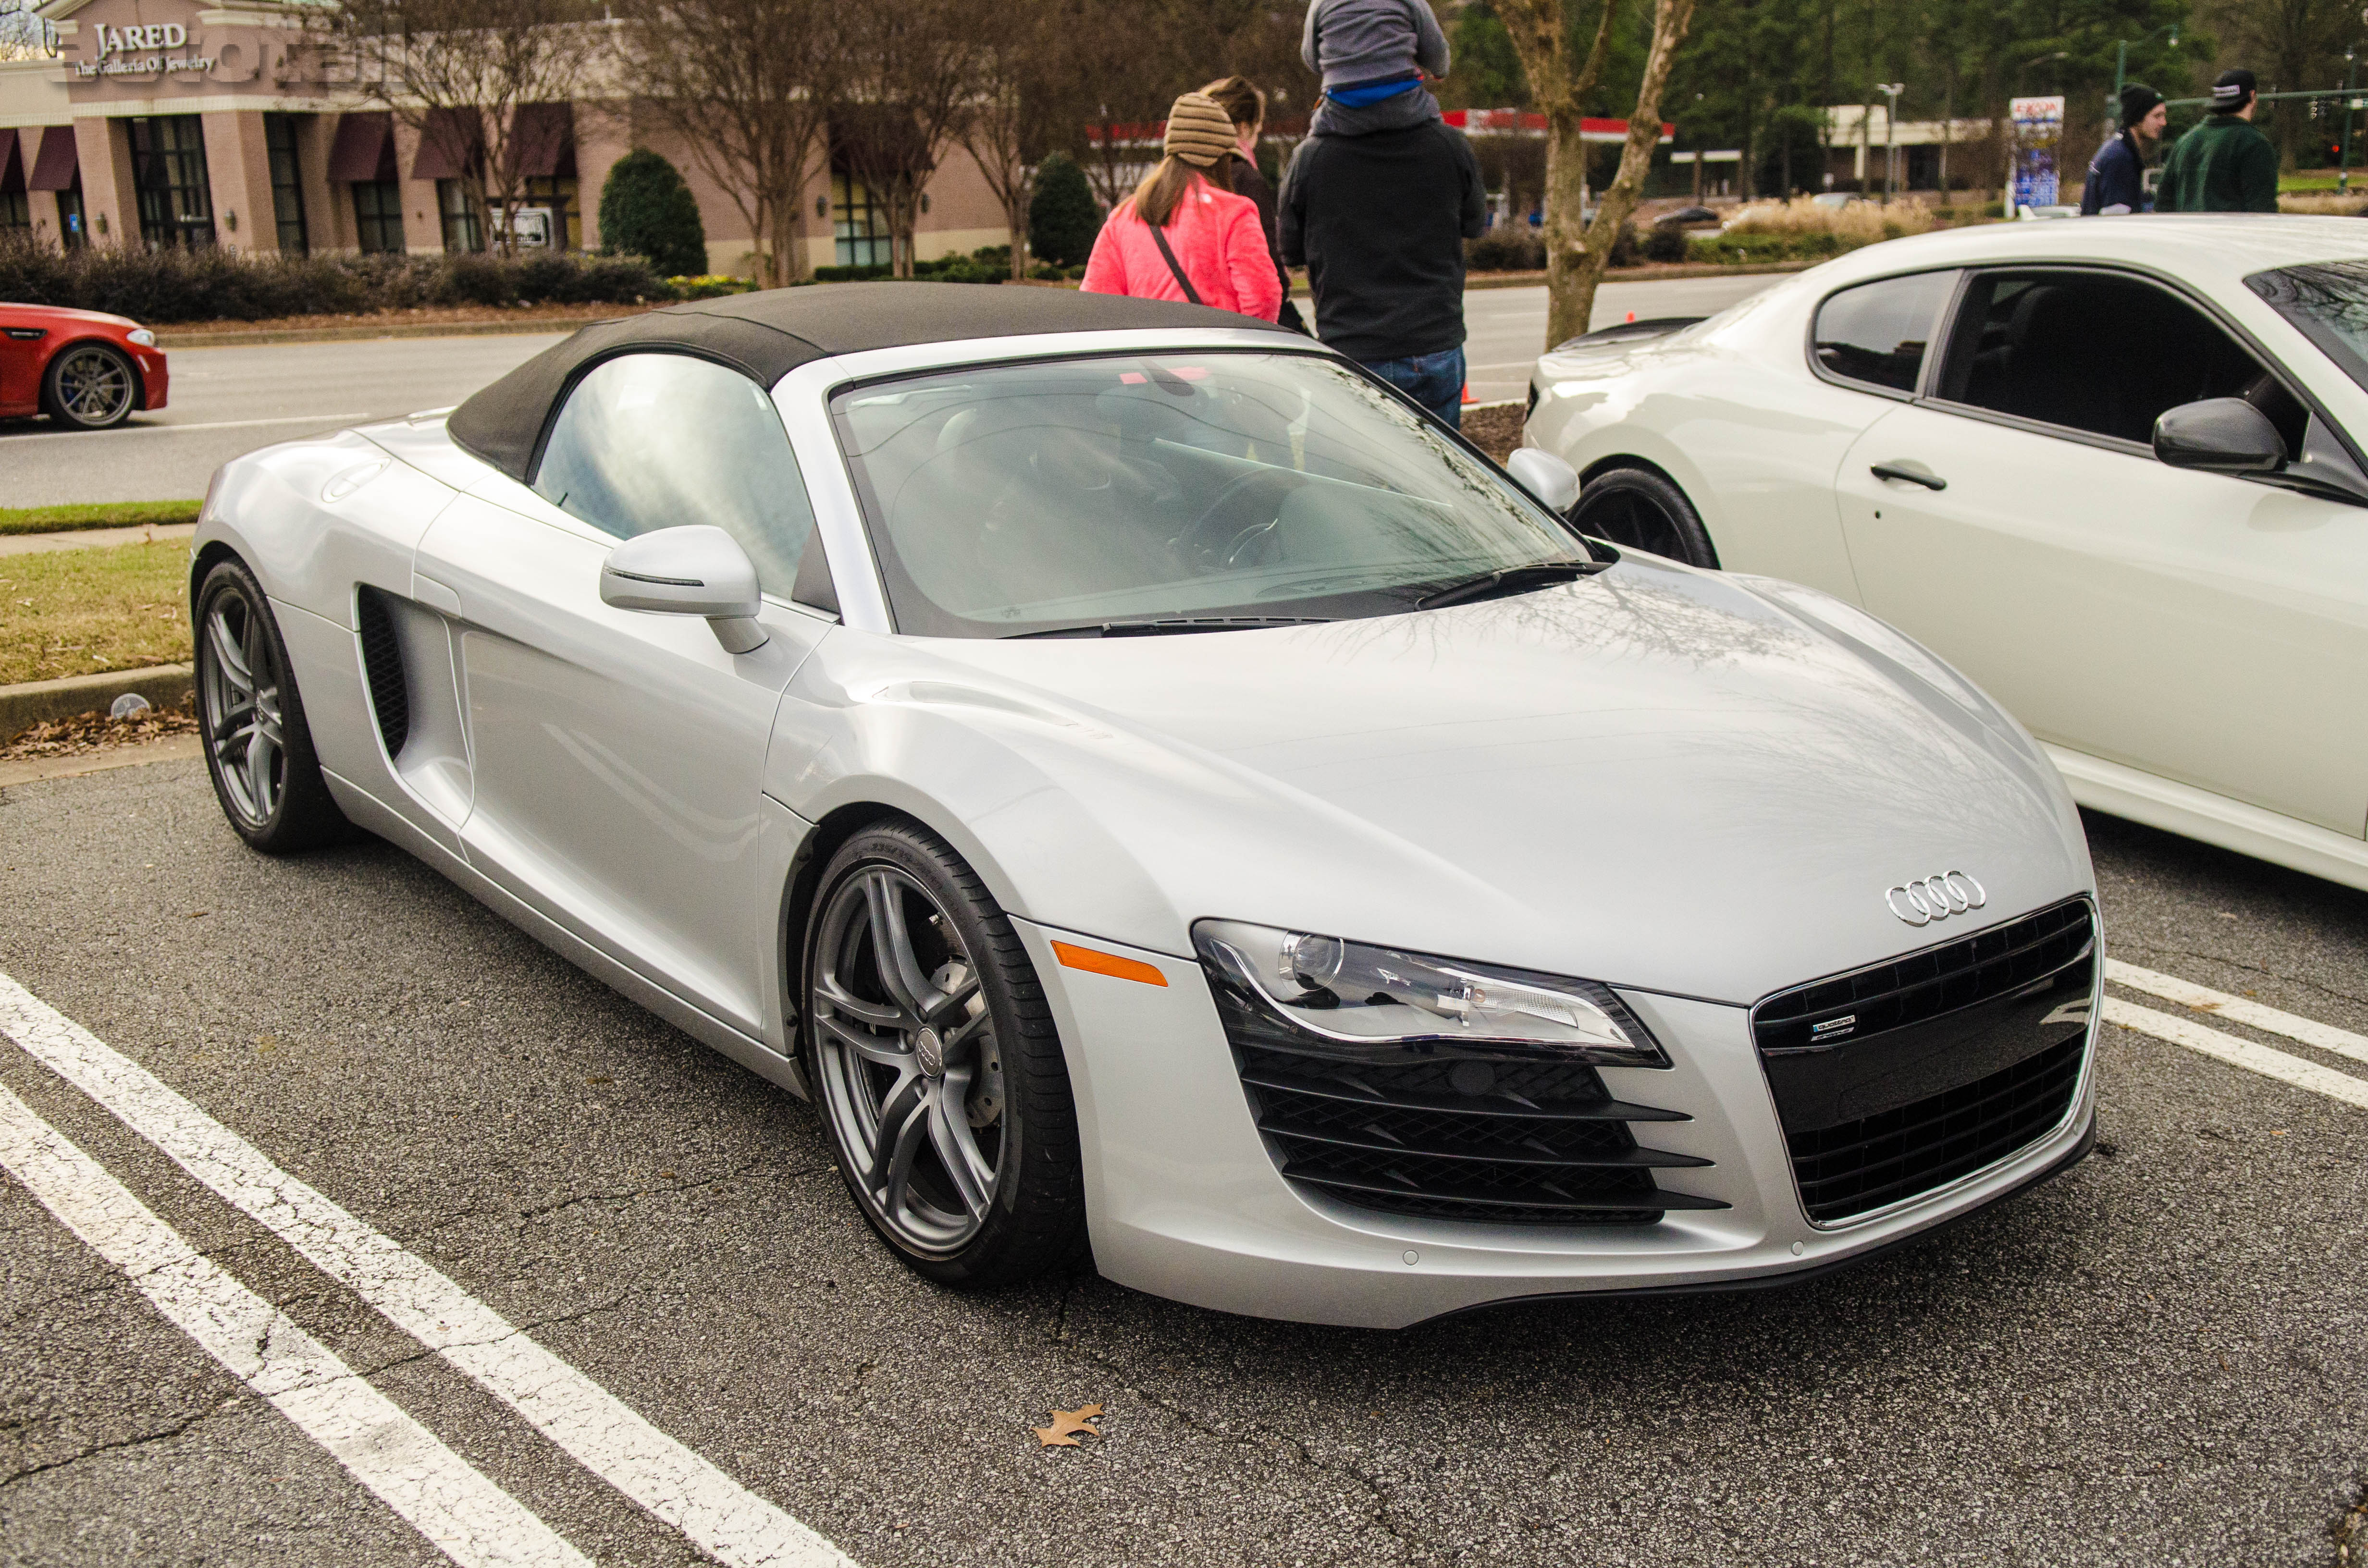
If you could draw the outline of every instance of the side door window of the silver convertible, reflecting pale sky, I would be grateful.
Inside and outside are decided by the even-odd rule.
[[[762,386],[710,360],[628,353],[592,369],[552,424],[535,493],[618,538],[713,523],[748,552],[765,592],[831,609],[781,415]]]

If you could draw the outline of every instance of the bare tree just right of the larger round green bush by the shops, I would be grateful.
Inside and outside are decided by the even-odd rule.
[[[670,128],[748,223],[767,289],[805,277],[805,175],[843,78],[831,0],[623,0],[635,111]]]

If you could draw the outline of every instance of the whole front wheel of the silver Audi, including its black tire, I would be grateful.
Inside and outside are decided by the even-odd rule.
[[[883,978],[883,921],[905,931],[914,964],[902,973],[926,988]],[[978,874],[909,822],[855,834],[822,874],[798,973],[815,1106],[871,1229],[954,1286],[1082,1260],[1068,1066],[1028,950]],[[990,1144],[992,1177],[980,1170]]]

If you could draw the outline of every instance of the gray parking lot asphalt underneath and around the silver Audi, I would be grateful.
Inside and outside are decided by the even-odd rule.
[[[2091,836],[2115,959],[2368,1033],[2368,898]],[[168,1094],[111,1113],[7,1035],[0,1090],[597,1563],[703,1561],[673,1483],[630,1502],[609,1459],[649,1440],[867,1568],[2321,1566],[2368,1483],[2368,1108],[2122,1028],[2093,1158],[1887,1258],[1362,1334],[1092,1274],[928,1286],[800,1101],[398,850],[251,855],[199,763],[0,791],[0,971]],[[26,1007],[0,1004],[21,1037]],[[386,1255],[339,1274],[313,1199],[218,1196],[152,1142],[173,1094]],[[431,1544],[168,1322],[185,1274],[135,1286],[21,1175],[0,1236],[0,1561],[566,1561]],[[620,1405],[561,1450],[533,1379],[398,1326],[403,1270]],[[1040,1447],[1082,1405],[1103,1435]],[[710,1556],[831,1561],[748,1530]]]

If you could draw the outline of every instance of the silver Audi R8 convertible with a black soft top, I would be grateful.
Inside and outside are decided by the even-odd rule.
[[[1797,1277],[2077,1161],[2041,751],[1575,493],[1196,306],[677,306],[225,467],[208,765],[258,850],[379,834],[812,1097],[950,1284],[1388,1326]]]

